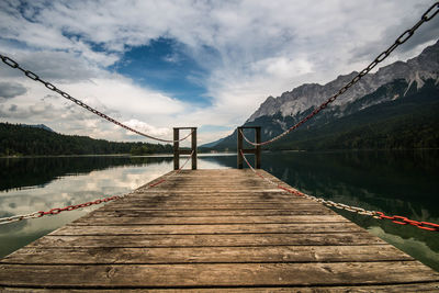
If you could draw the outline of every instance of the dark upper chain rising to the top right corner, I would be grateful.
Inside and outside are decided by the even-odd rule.
[[[309,113],[308,115],[306,115],[304,119],[302,119],[300,122],[297,122],[296,124],[294,124],[293,126],[291,126],[290,128],[288,128],[286,131],[284,131],[283,133],[281,133],[278,136],[274,136],[273,138],[262,142],[262,143],[255,143],[251,142],[250,139],[248,139],[245,135],[244,132],[243,133],[243,137],[244,139],[249,143],[250,145],[254,146],[263,146],[263,145],[268,145],[270,143],[273,143],[280,138],[282,138],[283,136],[285,136],[286,134],[291,133],[292,131],[294,131],[295,128],[297,128],[299,126],[301,126],[302,124],[304,124],[305,122],[307,122],[308,120],[311,120],[313,116],[315,116],[316,114],[318,114],[322,110],[324,110],[325,108],[328,106],[328,104],[333,103],[339,95],[344,94],[349,88],[351,88],[353,84],[356,84],[358,81],[360,81],[360,79],[365,76],[367,74],[369,74],[378,64],[380,64],[381,61],[383,61],[385,58],[387,58],[387,56],[395,49],[397,48],[399,45],[404,44],[405,42],[407,42],[408,38],[410,38],[413,36],[413,34],[415,33],[415,31],[425,22],[431,20],[432,18],[436,16],[436,14],[438,14],[439,12],[439,2],[436,2],[435,4],[432,4],[426,12],[424,12],[423,16],[420,18],[420,20],[409,30],[405,31],[404,33],[402,33],[398,38],[396,38],[395,43],[393,43],[392,46],[390,46],[386,50],[382,52],[380,55],[376,56],[376,58],[370,64],[368,65],[363,70],[361,70],[354,78],[352,78],[351,81],[349,81],[348,83],[346,83],[341,89],[339,89],[337,91],[337,93],[335,93],[333,97],[330,97],[329,99],[327,99],[323,104],[320,104],[318,108],[314,109],[314,111],[312,113]]]

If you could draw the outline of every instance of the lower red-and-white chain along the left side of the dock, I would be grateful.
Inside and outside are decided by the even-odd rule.
[[[166,182],[169,178],[180,173],[180,171],[184,168],[184,166],[191,159],[191,157],[193,155],[193,151],[194,150],[192,150],[191,155],[188,157],[188,159],[184,161],[184,164],[178,170],[171,172],[166,178],[160,179],[157,182],[148,184],[147,189],[155,188],[155,187]],[[145,190],[145,189],[143,189],[143,190]],[[86,203],[76,204],[76,205],[68,205],[68,206],[65,206],[65,207],[55,207],[55,209],[50,209],[47,212],[40,211],[40,212],[33,212],[33,213],[30,213],[30,214],[14,215],[14,216],[9,216],[9,217],[0,217],[0,225],[10,224],[10,223],[14,223],[14,222],[23,221],[23,219],[38,218],[38,217],[42,217],[42,216],[45,216],[45,215],[57,215],[57,214],[59,214],[61,212],[65,212],[65,211],[69,212],[69,211],[78,210],[78,209],[88,207],[88,206],[94,205],[94,204],[101,204],[101,203],[106,203],[106,202],[110,202],[110,201],[121,200],[121,199],[124,199],[124,198],[126,198],[126,196],[128,196],[131,194],[135,194],[135,193],[136,192],[134,191],[134,192],[122,194],[122,195],[114,195],[114,196],[110,196],[110,198],[99,199],[99,200],[95,200],[95,201],[92,201],[92,202],[86,202]]]

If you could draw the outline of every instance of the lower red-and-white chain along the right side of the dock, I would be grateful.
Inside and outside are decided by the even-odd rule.
[[[286,188],[286,187],[282,187],[280,183],[277,183],[274,181],[272,181],[271,179],[263,177],[260,172],[258,172],[257,170],[255,170],[255,168],[250,165],[250,162],[247,160],[246,156],[244,155],[243,150],[240,151],[244,160],[246,161],[247,166],[251,169],[251,171],[254,171],[259,178],[263,179],[264,181],[269,182],[272,185],[275,185],[277,188],[286,191],[295,196],[300,196],[300,198],[304,198],[304,199],[308,199],[312,200],[314,202],[318,202],[322,203],[326,206],[329,207],[336,207],[338,210],[345,210],[351,213],[357,213],[360,215],[367,215],[367,216],[372,216],[374,218],[379,218],[379,219],[390,219],[395,224],[399,224],[399,225],[413,225],[416,226],[420,229],[425,229],[425,230],[432,230],[432,232],[439,232],[439,225],[435,224],[435,223],[429,223],[429,222],[418,222],[418,221],[414,221],[414,219],[409,219],[407,217],[404,216],[387,216],[385,215],[383,212],[378,212],[378,211],[368,211],[364,210],[362,207],[358,207],[358,206],[352,206],[352,205],[348,205],[348,204],[342,204],[342,203],[336,203],[333,201],[328,201],[322,198],[316,198],[306,193],[303,193],[296,189],[293,188]]]

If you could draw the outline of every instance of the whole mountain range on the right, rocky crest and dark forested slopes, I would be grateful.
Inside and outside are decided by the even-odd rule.
[[[336,93],[356,75],[305,83],[268,97],[244,126],[261,126],[262,140],[281,134]],[[364,76],[327,109],[268,149],[439,147],[439,42],[407,61]],[[251,136],[251,131],[247,131]],[[236,131],[201,146],[236,149]]]

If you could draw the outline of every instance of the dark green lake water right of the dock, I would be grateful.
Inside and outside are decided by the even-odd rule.
[[[335,202],[439,223],[439,151],[263,154],[263,168],[289,184]],[[439,271],[439,235],[336,210]]]

